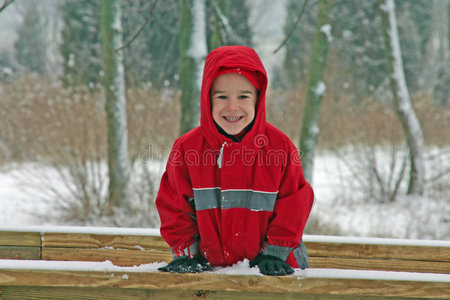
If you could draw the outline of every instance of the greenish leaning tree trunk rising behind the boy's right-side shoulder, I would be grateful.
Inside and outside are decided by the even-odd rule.
[[[326,67],[328,48],[332,41],[330,14],[333,0],[320,0],[317,27],[308,71],[308,86],[303,109],[300,151],[306,180],[312,182],[314,151],[319,135],[319,113],[322,98],[326,92],[323,73]]]

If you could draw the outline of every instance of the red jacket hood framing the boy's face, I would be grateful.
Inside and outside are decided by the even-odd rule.
[[[212,117],[209,90],[214,79],[222,68],[241,68],[248,71],[259,72],[262,77],[262,87],[256,103],[256,116],[250,131],[244,136],[242,142],[252,140],[252,137],[264,132],[266,124],[265,98],[267,90],[266,70],[255,50],[244,46],[224,46],[211,51],[206,57],[203,70],[202,87],[200,94],[200,127],[206,139],[213,147],[220,147],[229,138],[220,134]]]

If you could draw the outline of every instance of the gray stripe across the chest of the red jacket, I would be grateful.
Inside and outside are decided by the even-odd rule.
[[[273,211],[277,193],[253,190],[225,190],[220,188],[194,189],[195,209],[248,208],[258,211]]]

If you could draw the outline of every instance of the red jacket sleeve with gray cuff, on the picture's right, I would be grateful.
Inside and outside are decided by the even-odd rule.
[[[262,249],[262,253],[282,260],[299,246],[314,202],[314,192],[303,176],[297,148],[289,140],[285,149],[289,155]]]

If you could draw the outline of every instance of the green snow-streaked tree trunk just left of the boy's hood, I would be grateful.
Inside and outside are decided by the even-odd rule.
[[[200,86],[207,55],[205,0],[180,0],[181,134],[200,123]]]

